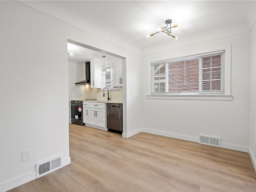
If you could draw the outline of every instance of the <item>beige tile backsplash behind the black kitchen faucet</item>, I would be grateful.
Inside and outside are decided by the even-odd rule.
[[[91,88],[90,85],[84,86],[84,98],[85,99],[97,99],[97,100],[108,100],[108,90],[105,89],[105,97],[103,97],[103,90],[100,88]],[[122,94],[122,87],[120,90],[109,90],[109,98],[110,101],[113,102],[122,102],[123,101],[123,94]]]

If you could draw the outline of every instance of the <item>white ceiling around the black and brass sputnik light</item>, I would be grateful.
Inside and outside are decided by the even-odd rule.
[[[256,19],[256,1],[19,2],[115,44],[140,50],[205,34],[220,37],[227,29],[229,34],[248,32]],[[146,38],[158,26],[166,26],[167,19],[172,24],[184,23],[172,30],[179,40],[164,33]]]

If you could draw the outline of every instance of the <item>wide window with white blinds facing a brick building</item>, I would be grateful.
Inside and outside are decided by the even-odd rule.
[[[151,63],[151,94],[224,92],[225,51]]]

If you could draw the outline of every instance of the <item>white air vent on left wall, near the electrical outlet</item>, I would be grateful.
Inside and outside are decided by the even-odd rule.
[[[36,164],[36,178],[44,176],[50,172],[53,172],[59,168],[62,168],[61,157],[57,156],[50,158],[44,162]]]

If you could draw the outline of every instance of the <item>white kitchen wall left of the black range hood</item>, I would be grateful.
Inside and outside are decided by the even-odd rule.
[[[84,99],[84,85],[76,85],[76,82],[85,80],[84,64],[68,62],[68,82],[69,82],[69,103],[71,100]],[[71,107],[69,107],[69,123],[71,123]]]

